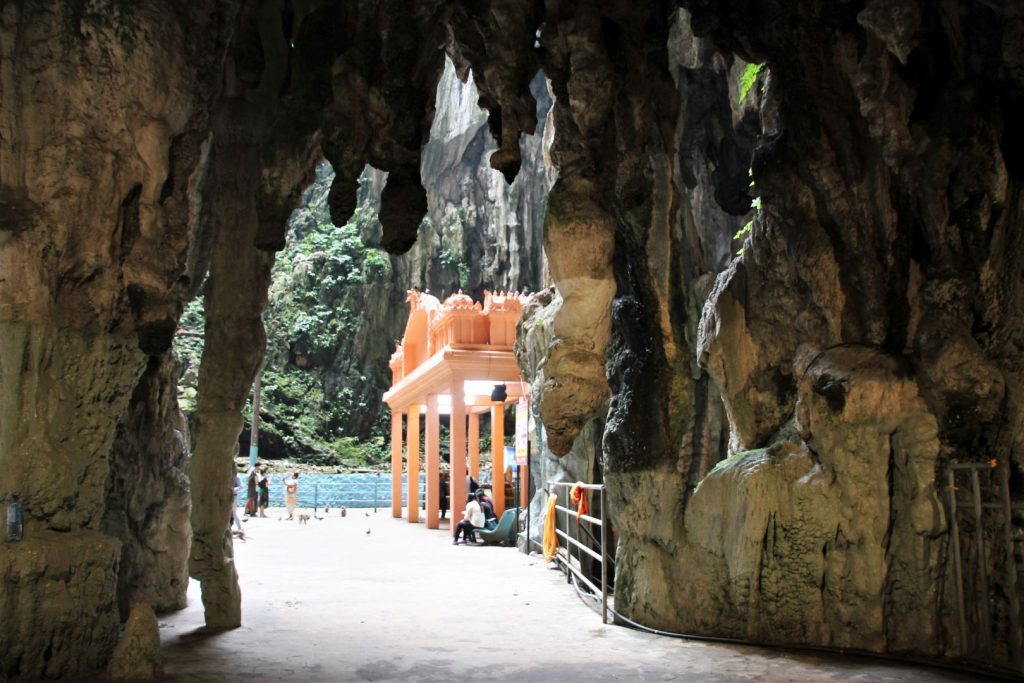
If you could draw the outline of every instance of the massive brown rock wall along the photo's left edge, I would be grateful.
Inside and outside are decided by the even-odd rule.
[[[119,602],[180,604],[187,502],[167,351],[233,12],[0,7],[0,468],[26,520],[25,540],[0,547],[0,678],[90,673]]]

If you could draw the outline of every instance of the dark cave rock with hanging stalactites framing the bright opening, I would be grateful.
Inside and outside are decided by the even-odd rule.
[[[287,219],[327,160],[343,223],[370,165],[380,245],[414,248],[445,58],[510,183],[550,84],[555,289],[520,362],[545,447],[608,486],[616,609],[1024,673],[1017,3],[12,0],[0,679],[101,670],[189,575],[240,626],[232,455]]]

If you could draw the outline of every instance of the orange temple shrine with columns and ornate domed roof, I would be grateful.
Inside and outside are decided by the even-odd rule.
[[[480,478],[480,415],[484,413],[490,415],[495,513],[500,517],[504,511],[505,405],[527,400],[529,393],[512,351],[523,298],[514,293],[484,292],[481,305],[460,291],[441,303],[429,294],[409,292],[406,299],[410,305],[409,322],[391,356],[391,388],[383,398],[391,409],[393,516],[401,517],[402,454],[406,453],[409,521],[419,521],[421,417],[425,433],[427,528],[440,525],[441,415],[450,416],[449,501],[453,517],[465,507],[466,475]],[[504,398],[494,393],[497,385],[504,385]],[[522,468],[520,477],[528,481],[526,476]]]

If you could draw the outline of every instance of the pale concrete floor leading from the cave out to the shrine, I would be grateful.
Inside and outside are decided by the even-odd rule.
[[[199,587],[161,618],[164,681],[968,681],[868,658],[604,626],[543,559],[451,545],[390,512],[246,523],[242,628],[204,635]]]

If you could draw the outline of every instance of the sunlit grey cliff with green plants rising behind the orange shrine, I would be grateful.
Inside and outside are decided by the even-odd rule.
[[[400,304],[410,289],[442,297],[463,289],[482,298],[484,289],[536,291],[546,284],[542,240],[553,169],[544,135],[551,133],[551,98],[543,75],[530,88],[538,134],[519,140],[520,171],[508,184],[488,165],[497,145],[472,74],[463,83],[446,61],[420,169],[427,213],[406,254],[389,257],[379,249],[386,174],[368,167],[356,212],[334,226],[329,197],[335,174],[327,162],[317,167],[289,218],[272,272],[260,457],[336,463],[353,451],[361,455],[353,440],[387,435],[380,396],[391,384],[388,359],[406,327]],[[191,373],[186,391],[196,379]],[[247,453],[248,426],[241,441]]]

